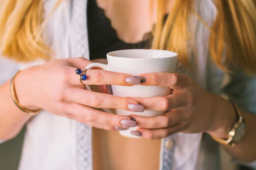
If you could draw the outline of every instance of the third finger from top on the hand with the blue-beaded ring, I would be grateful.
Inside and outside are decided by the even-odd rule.
[[[134,127],[136,125],[136,122],[127,116],[97,111],[93,108],[83,106],[78,103],[67,103],[65,105],[65,115],[69,115],[70,118],[78,120],[81,123],[94,126],[109,125],[127,128]],[[105,128],[107,128],[107,126],[105,126]],[[110,127],[108,129],[110,129]]]

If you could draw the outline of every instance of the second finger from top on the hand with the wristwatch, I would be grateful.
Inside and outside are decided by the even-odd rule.
[[[177,91],[176,94],[169,96],[156,96],[151,98],[133,98],[135,101],[145,107],[149,111],[168,111],[174,108],[186,106],[187,97]]]

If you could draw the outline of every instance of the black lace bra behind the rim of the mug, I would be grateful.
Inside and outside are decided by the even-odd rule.
[[[146,33],[138,43],[126,43],[117,37],[117,31],[105,16],[105,11],[97,6],[96,0],[87,1],[87,29],[90,60],[106,58],[107,52],[134,48],[149,48],[151,33]]]

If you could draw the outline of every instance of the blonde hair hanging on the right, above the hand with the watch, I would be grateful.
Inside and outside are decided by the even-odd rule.
[[[208,43],[212,60],[226,72],[230,71],[229,68],[240,66],[248,74],[255,73],[256,1],[215,0],[215,4],[218,14],[209,28]],[[158,11],[164,11],[164,6],[164,0],[159,0]],[[188,68],[191,68],[191,64],[186,42],[193,38],[188,30],[188,18],[192,13],[198,16],[192,7],[193,1],[176,0],[164,24],[164,13],[158,13],[152,43],[154,49],[177,52],[178,60]]]

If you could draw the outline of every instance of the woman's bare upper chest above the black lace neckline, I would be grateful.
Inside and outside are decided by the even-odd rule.
[[[164,13],[168,13],[173,4],[172,0],[165,1]],[[97,0],[97,6],[105,11],[112,27],[117,30],[119,39],[124,42],[136,43],[142,40],[145,33],[152,30],[156,23],[157,1],[119,1]]]

